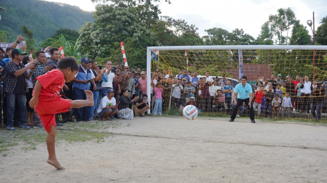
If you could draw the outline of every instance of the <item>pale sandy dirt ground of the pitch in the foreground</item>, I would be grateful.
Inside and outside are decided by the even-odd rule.
[[[58,143],[65,170],[46,163],[45,142],[0,156],[0,181],[327,182],[327,125],[256,121],[120,120],[104,142]]]

